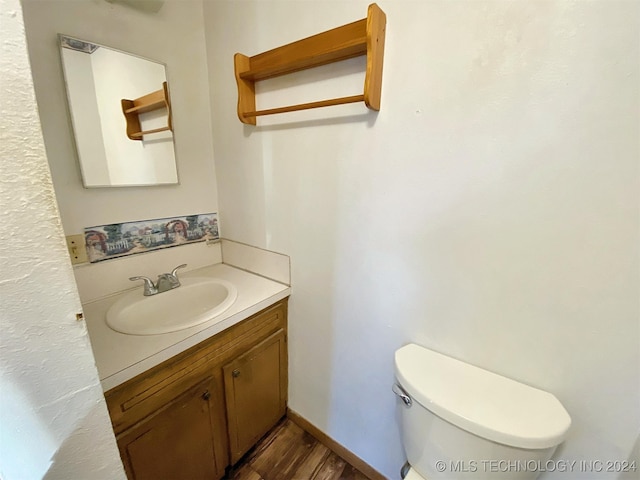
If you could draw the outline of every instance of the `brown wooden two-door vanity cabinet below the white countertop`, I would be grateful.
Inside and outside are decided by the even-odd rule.
[[[105,394],[130,480],[219,479],[286,411],[287,299]]]

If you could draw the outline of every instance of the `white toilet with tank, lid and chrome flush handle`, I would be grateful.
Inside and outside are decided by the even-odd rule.
[[[534,479],[571,425],[552,394],[418,345],[395,374],[405,480]]]

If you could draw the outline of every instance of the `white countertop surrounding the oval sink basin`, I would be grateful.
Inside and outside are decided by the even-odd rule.
[[[288,285],[222,263],[192,270],[182,277],[221,278],[236,286],[238,297],[225,312],[205,323],[160,335],[125,335],[112,330],[105,323],[109,307],[131,290],[83,304],[91,346],[105,392],[291,293]],[[142,295],[142,288],[139,290]]]

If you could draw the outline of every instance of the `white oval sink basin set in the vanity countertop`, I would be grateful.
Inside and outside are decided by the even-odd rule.
[[[236,301],[236,287],[217,278],[181,279],[182,285],[145,297],[136,289],[107,311],[107,325],[129,335],[177,332],[212,320]]]

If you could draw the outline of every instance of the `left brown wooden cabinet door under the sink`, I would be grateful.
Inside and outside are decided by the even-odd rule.
[[[118,435],[130,480],[211,480],[223,476],[226,462],[216,458],[216,442],[225,440],[224,425],[218,424],[217,409],[224,409],[219,383],[209,377],[187,388]]]

